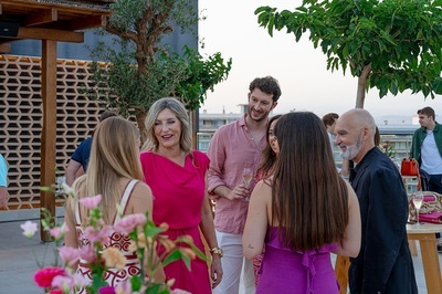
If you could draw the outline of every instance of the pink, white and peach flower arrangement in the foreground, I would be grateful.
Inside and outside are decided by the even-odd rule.
[[[69,195],[73,195],[70,187],[64,187]],[[42,228],[55,242],[55,262],[52,265],[41,267],[34,274],[34,282],[39,287],[44,288],[50,294],[67,294],[82,290],[91,294],[167,294],[167,293],[188,293],[181,290],[171,291],[175,280],[166,283],[155,281],[154,274],[160,266],[182,260],[190,270],[190,262],[197,256],[207,260],[189,235],[170,240],[162,232],[168,230],[166,223],[156,227],[148,220],[146,213],[128,214],[115,223],[115,225],[105,224],[102,219],[102,211],[97,208],[102,196],[87,197],[80,199],[80,203],[88,209],[87,223],[84,233],[90,243],[83,244],[80,249],[63,245],[64,234],[67,231],[65,223],[56,224],[55,218],[46,210],[42,210]],[[117,208],[118,213],[123,212]],[[21,224],[23,234],[32,238],[38,231],[38,224],[27,221]],[[116,285],[108,285],[105,280],[105,273],[109,269],[123,270],[126,266],[126,258],[122,251],[114,246],[107,246],[109,231],[126,235],[130,239],[129,251],[136,252],[139,260],[139,273],[129,280]],[[161,244],[165,251],[159,259],[156,256],[156,249]],[[59,262],[60,258],[60,262]],[[80,260],[87,261],[91,270],[92,281],[85,279],[75,271]],[[61,263],[61,264],[59,264]],[[146,270],[145,270],[146,269]]]

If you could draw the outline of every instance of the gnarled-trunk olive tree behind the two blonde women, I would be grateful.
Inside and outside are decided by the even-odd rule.
[[[146,138],[145,118],[151,104],[176,96],[189,111],[200,107],[206,92],[227,78],[231,60],[220,53],[204,59],[185,46],[182,56],[161,43],[179,28],[192,31],[198,23],[194,1],[118,0],[99,34],[114,34],[114,43],[90,49],[95,61],[86,88],[90,97],[124,116],[134,115]],[[194,32],[193,32],[194,33]],[[98,62],[99,61],[99,62]]]

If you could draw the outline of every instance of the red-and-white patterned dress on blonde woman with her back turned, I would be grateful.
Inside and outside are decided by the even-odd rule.
[[[126,210],[126,206],[129,202],[129,198],[131,195],[131,190],[138,180],[131,180],[127,185],[125,192],[122,197],[120,206],[123,211]],[[78,235],[78,248],[82,248],[86,244],[90,244],[90,240],[84,235],[84,228],[82,227],[82,218],[80,216],[80,203],[75,207],[75,228]],[[119,221],[120,217],[116,216],[113,224]],[[116,269],[109,269],[105,272],[105,280],[110,286],[116,286],[122,282],[130,279],[134,275],[138,275],[140,273],[139,261],[136,252],[128,251],[128,246],[130,244],[130,239],[127,235],[123,235],[120,233],[112,232],[109,235],[109,243],[105,245],[118,248],[125,258],[127,259],[126,266],[123,271],[117,271]],[[92,281],[91,269],[87,266],[87,262],[85,260],[80,260],[77,273],[82,274],[85,279]],[[78,293],[86,293],[84,290],[80,290]]]

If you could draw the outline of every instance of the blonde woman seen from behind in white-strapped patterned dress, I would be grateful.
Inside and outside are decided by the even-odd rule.
[[[85,231],[88,225],[86,217],[88,212],[80,204],[78,199],[102,195],[98,208],[103,212],[105,224],[116,224],[122,218],[117,213],[117,203],[120,204],[124,216],[148,212],[148,217],[151,217],[152,195],[149,186],[143,181],[139,145],[139,133],[133,123],[120,117],[109,117],[98,124],[94,132],[87,174],[74,181],[76,199],[70,197],[66,202],[65,245],[81,249],[83,244],[91,242]],[[106,271],[106,282],[110,286],[116,286],[139,274],[141,265],[136,252],[127,249],[130,241],[127,235],[122,237],[119,233],[110,232],[108,240],[105,248],[118,248],[127,259],[124,273],[116,269]],[[86,280],[92,280],[91,269],[84,260],[80,261],[77,273]],[[155,273],[154,279],[157,282],[166,281],[162,269]]]

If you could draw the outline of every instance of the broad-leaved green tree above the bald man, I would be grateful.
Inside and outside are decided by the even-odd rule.
[[[308,30],[314,48],[327,56],[327,70],[349,67],[358,77],[356,107],[377,87],[382,98],[406,90],[434,98],[442,94],[442,1],[304,0],[295,11],[260,7],[257,22],[286,29],[296,42]]]

